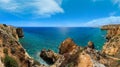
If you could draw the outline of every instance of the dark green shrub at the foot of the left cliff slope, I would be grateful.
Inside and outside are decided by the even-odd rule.
[[[18,63],[12,57],[6,55],[4,58],[5,67],[18,67]]]

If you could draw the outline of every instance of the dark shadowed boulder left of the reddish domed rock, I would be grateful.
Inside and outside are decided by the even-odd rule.
[[[43,49],[40,53],[40,57],[45,60],[50,67],[60,67],[65,60],[64,56],[53,52],[52,50]]]

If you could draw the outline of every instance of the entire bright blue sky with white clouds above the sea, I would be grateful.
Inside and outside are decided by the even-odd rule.
[[[0,23],[45,27],[119,24],[120,0],[0,0]]]

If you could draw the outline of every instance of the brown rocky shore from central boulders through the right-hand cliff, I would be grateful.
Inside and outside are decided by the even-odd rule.
[[[52,60],[50,67],[120,67],[120,25],[106,25],[107,42],[101,51],[95,49],[92,41],[88,46],[80,47],[71,38],[64,40],[59,47],[59,54],[44,50],[40,56],[45,61]],[[55,56],[57,59],[55,59]]]

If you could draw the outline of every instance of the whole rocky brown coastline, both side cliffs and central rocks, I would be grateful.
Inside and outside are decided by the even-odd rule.
[[[43,49],[40,57],[49,66],[40,64],[31,58],[22,45],[22,28],[0,25],[0,67],[120,67],[120,25],[106,25],[105,45],[101,51],[94,48],[94,42],[81,47],[67,38],[59,46],[59,53]]]

